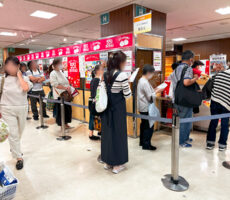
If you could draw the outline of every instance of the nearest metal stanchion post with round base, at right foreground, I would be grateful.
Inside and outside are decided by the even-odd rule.
[[[189,188],[188,182],[179,176],[179,137],[180,118],[173,114],[172,118],[172,146],[171,146],[171,174],[167,174],[161,179],[163,185],[169,190],[182,192]]]

